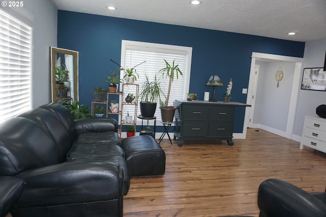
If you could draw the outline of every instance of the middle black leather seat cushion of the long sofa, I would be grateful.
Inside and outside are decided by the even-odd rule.
[[[90,158],[120,156],[124,158],[124,151],[119,145],[105,143],[78,144],[71,147],[67,153],[67,160],[71,158]]]

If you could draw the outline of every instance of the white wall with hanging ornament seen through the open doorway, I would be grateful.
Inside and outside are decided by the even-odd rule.
[[[286,132],[295,64],[256,61],[256,65],[260,67],[253,123]],[[275,74],[280,67],[284,77],[277,87]]]

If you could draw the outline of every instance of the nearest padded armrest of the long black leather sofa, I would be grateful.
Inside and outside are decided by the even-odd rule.
[[[26,181],[18,206],[120,200],[123,171],[107,162],[66,162],[26,170],[16,175]]]

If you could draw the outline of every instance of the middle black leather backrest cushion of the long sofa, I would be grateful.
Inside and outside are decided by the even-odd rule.
[[[67,129],[55,114],[46,109],[36,108],[20,114],[19,117],[38,123],[55,140],[61,162],[66,159],[66,154],[71,148],[70,138]]]

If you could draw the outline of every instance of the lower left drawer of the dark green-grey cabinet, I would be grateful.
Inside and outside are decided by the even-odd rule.
[[[207,121],[183,121],[183,136],[207,136]]]

